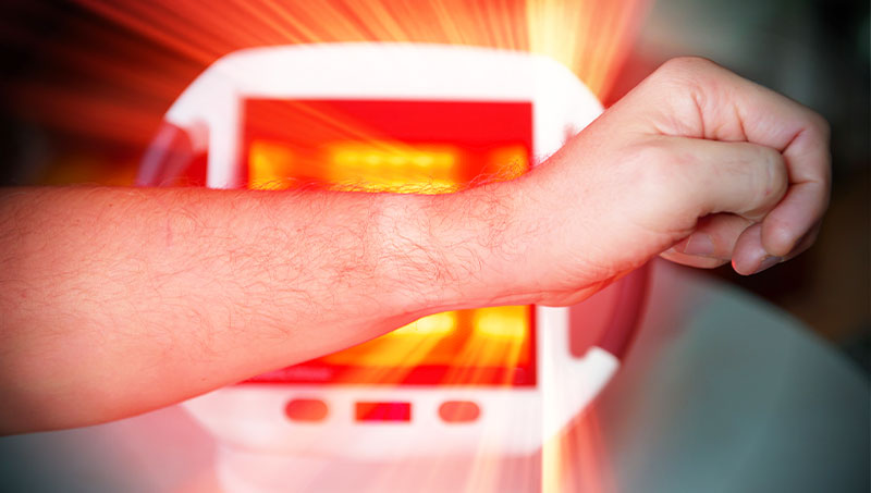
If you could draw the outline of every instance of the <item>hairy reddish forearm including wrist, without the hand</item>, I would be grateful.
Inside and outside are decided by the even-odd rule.
[[[5,190],[0,421],[128,416],[499,300],[500,197]]]

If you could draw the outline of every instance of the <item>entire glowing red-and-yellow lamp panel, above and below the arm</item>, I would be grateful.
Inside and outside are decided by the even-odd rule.
[[[259,189],[457,192],[530,167],[529,102],[244,101],[243,182]],[[533,385],[530,306],[425,317],[257,382]]]

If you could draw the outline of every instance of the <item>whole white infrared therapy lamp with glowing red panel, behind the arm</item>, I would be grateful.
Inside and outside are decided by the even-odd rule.
[[[542,162],[601,112],[564,66],[481,48],[248,49],[179,97],[142,186],[452,193]],[[535,241],[535,238],[530,239]],[[185,404],[223,443],[352,459],[541,447],[621,363],[646,269],[573,308],[449,311]]]

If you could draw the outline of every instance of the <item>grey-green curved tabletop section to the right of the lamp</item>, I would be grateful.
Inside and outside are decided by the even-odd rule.
[[[688,269],[597,414],[617,491],[868,492],[869,383],[787,313]]]

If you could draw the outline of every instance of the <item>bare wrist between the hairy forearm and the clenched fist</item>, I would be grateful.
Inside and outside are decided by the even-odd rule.
[[[518,261],[529,246],[513,182],[449,195],[384,194],[381,276],[400,312],[532,303]],[[519,273],[519,275],[518,275]]]

